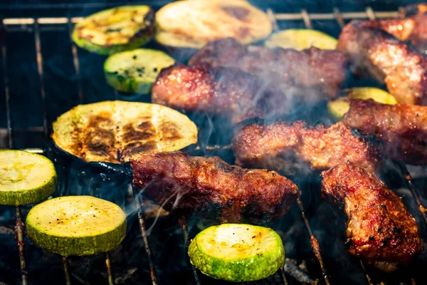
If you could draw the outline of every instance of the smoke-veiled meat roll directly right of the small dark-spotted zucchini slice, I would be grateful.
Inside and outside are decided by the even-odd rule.
[[[171,66],[152,86],[152,103],[186,112],[209,113],[239,123],[288,113],[285,95],[274,86],[238,68]]]

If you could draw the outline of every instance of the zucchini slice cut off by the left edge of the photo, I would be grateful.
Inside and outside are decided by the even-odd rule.
[[[51,160],[22,150],[0,150],[0,204],[43,201],[55,192],[56,170]]]

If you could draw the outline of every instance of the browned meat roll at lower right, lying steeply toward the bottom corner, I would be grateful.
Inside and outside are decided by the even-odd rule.
[[[394,271],[423,251],[415,219],[400,197],[352,162],[322,172],[322,197],[347,214],[349,253]]]

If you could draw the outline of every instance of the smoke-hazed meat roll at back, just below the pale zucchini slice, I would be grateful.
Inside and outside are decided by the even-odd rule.
[[[347,58],[340,51],[318,48],[248,48],[233,38],[224,38],[208,43],[189,61],[199,63],[240,68],[280,88],[287,98],[315,103],[338,95],[346,77]]]

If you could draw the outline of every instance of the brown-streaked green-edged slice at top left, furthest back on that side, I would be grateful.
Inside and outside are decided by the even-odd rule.
[[[152,38],[154,10],[149,6],[121,6],[90,15],[75,25],[73,41],[99,54],[129,51]]]

